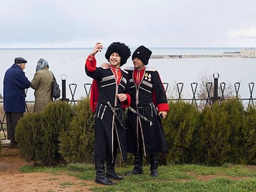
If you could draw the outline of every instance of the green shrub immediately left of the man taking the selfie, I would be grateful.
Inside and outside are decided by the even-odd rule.
[[[74,106],[75,115],[70,127],[60,134],[59,152],[66,162],[93,162],[94,119],[90,99],[85,98]]]

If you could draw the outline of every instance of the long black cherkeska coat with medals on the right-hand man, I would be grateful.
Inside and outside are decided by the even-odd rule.
[[[133,112],[127,112],[127,150],[132,154],[139,154],[142,149],[145,156],[157,152],[167,151],[163,125],[158,116],[161,111],[169,111],[166,93],[158,72],[146,68],[139,85],[135,85],[134,67],[127,67],[130,81],[130,107],[144,115],[151,123],[139,118]]]

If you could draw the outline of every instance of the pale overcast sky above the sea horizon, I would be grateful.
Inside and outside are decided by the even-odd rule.
[[[254,47],[255,0],[1,0],[0,48]]]

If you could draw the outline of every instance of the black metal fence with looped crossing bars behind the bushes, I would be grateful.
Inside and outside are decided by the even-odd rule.
[[[213,83],[212,82],[207,82],[205,83],[205,88],[207,90],[207,97],[206,98],[197,98],[197,86],[198,83],[191,83],[191,90],[192,90],[192,98],[182,98],[182,90],[183,90],[183,86],[184,83],[177,83],[177,98],[168,98],[169,101],[188,101],[191,102],[191,104],[195,105],[197,107],[197,109],[202,109],[202,107],[206,107],[206,106],[211,106],[214,102],[218,101],[218,102],[222,102],[225,99],[229,99],[228,97],[224,96],[224,91],[226,88],[226,83],[221,82],[220,85],[218,83],[218,78],[219,78],[219,74],[215,73],[213,74]],[[253,91],[254,91],[254,83],[251,82],[248,84],[249,85],[249,98],[239,98],[239,88],[240,88],[240,83],[236,82],[234,83],[234,90],[235,90],[235,98],[238,99],[239,101],[245,101],[247,102],[247,109],[249,106],[252,106],[255,108],[254,106],[254,102],[256,100],[256,98],[253,98]],[[164,89],[165,91],[168,90],[168,83],[163,83]],[[86,96],[90,96],[90,91],[92,90],[92,84],[91,83],[85,83],[83,85],[83,88],[85,89],[85,93]],[[70,104],[76,104],[78,101],[74,99],[75,96],[75,91],[77,90],[77,84],[72,83],[69,84],[69,91],[71,94],[71,99],[67,99],[66,98],[66,80],[62,79],[62,101],[67,101],[70,102]],[[218,90],[220,90],[220,94],[218,93]],[[27,93],[27,91],[26,91]],[[28,103],[33,103],[35,101],[26,101],[26,109],[27,112],[31,112],[28,109]],[[198,106],[198,102],[200,102],[200,106]],[[203,104],[202,104],[203,102]],[[2,104],[3,101],[0,101],[0,104]],[[4,124],[6,124],[6,114],[3,111],[3,107],[2,107],[2,114],[3,117],[1,117],[0,119],[0,133],[2,132],[4,135],[4,139],[6,139],[6,133],[4,132]]]

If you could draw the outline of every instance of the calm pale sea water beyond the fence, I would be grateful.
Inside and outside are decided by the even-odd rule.
[[[243,48],[150,48],[153,55],[220,55],[224,52],[239,52]],[[49,69],[54,73],[59,85],[66,81],[66,98],[79,99],[87,95],[85,83],[92,83],[92,79],[85,74],[85,59],[92,48],[25,48],[0,49],[0,94],[2,95],[4,73],[14,63],[15,57],[24,57],[28,63],[24,70],[28,80],[35,75],[37,61],[46,59]],[[131,48],[133,52],[135,48]],[[105,59],[106,48],[96,54],[97,66]],[[131,57],[127,64],[133,66]],[[191,83],[200,86],[202,78],[207,77],[213,82],[213,74],[218,73],[218,83],[240,83],[239,96],[241,98],[255,98],[256,90],[252,83],[256,82],[256,58],[245,57],[205,57],[189,59],[150,59],[147,67],[155,68],[160,73],[161,80],[168,84],[168,97],[175,99],[177,83],[183,83],[182,97],[192,99]],[[76,88],[75,88],[76,86]],[[75,91],[74,91],[75,88]],[[88,87],[87,87],[88,89]],[[197,90],[200,88],[197,87]],[[87,90],[88,91],[88,90]],[[27,101],[34,101],[34,90],[27,90]],[[176,98],[177,99],[177,98]]]

